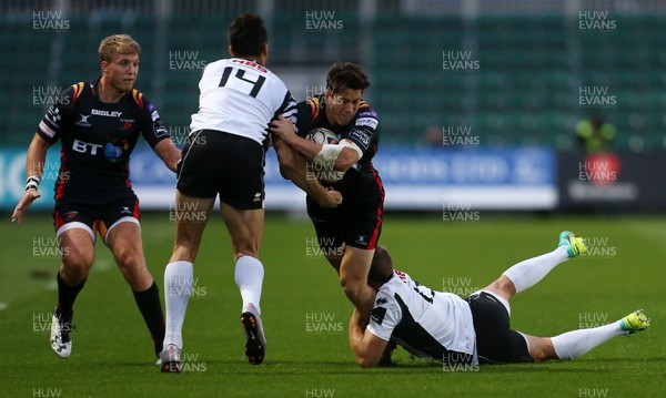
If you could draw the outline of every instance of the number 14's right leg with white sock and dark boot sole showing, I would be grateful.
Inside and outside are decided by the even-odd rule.
[[[260,305],[264,269],[259,259],[264,210],[240,210],[225,203],[221,203],[220,207],[231,237],[235,261],[234,279],[243,300],[241,325],[245,330],[245,356],[250,364],[259,365],[266,350]]]

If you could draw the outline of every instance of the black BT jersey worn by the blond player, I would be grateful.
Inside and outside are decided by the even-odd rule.
[[[100,204],[133,197],[130,154],[139,135],[154,147],[169,139],[155,108],[138,90],[117,103],[98,94],[99,79],[80,82],[62,93],[39,123],[37,133],[61,141],[57,203]]]

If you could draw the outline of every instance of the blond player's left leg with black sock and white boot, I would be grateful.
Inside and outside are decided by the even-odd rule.
[[[67,225],[68,228],[61,228],[58,234],[62,265],[57,275],[58,305],[53,310],[49,340],[56,355],[63,359],[69,358],[72,353],[74,300],[83,289],[94,262],[92,229],[82,223]]]

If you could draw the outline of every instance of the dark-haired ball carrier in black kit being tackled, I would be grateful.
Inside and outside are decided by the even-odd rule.
[[[323,174],[323,180],[333,181],[320,181],[342,194],[342,204],[334,208],[320,206],[309,195],[307,214],[344,293],[366,315],[372,308],[367,274],[382,232],[384,206],[382,180],[372,164],[380,141],[379,115],[361,99],[369,86],[359,65],[335,63],[326,75],[324,94],[299,103],[293,120],[278,119],[270,129],[278,137],[273,145],[283,176],[304,187],[311,176]],[[337,134],[340,142],[306,140],[316,127]],[[321,173],[312,162],[322,165]],[[344,176],[335,181],[326,176],[331,172],[344,172]]]

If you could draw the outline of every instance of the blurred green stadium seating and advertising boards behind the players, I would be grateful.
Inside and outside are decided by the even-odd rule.
[[[9,0],[0,11],[3,210],[22,193],[21,156],[48,105],[99,75],[103,37],[141,43],[135,86],[182,144],[200,72],[226,55],[242,12],[266,21],[269,67],[296,100],[323,92],[334,61],[367,70],[387,208],[666,207],[664,1]],[[576,136],[593,116],[616,131],[602,157]],[[153,157],[138,147],[132,181],[145,208],[164,208],[173,176]],[[273,155],[266,173],[269,208],[302,207]]]

